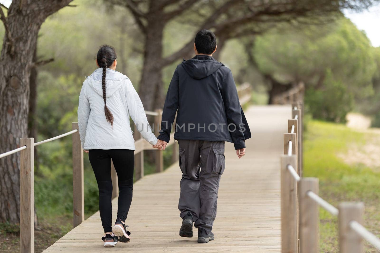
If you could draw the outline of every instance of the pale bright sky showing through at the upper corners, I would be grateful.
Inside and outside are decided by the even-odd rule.
[[[11,2],[12,0],[0,0],[0,3],[7,7]],[[380,46],[380,4],[360,13],[345,10],[344,16],[348,17],[359,30],[365,31],[372,46]]]

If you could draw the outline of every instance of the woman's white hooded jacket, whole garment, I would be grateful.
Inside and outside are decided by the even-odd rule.
[[[107,122],[102,71],[102,68],[98,68],[86,78],[79,95],[78,125],[82,148],[135,150],[129,116],[141,136],[155,145],[157,138],[152,133],[140,97],[131,81],[127,76],[109,68],[106,70],[106,103],[114,115],[113,127]]]

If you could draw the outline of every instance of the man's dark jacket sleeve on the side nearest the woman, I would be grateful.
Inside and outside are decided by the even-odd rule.
[[[170,140],[171,126],[178,109],[178,91],[179,77],[177,67],[169,84],[168,93],[166,93],[165,104],[162,111],[160,135],[157,137],[158,140],[166,142]]]

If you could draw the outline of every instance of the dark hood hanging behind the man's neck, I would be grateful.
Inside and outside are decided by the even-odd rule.
[[[203,79],[224,65],[209,55],[195,55],[190,60],[184,60],[182,66],[192,78]]]

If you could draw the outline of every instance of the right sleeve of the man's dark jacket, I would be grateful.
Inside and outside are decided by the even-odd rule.
[[[231,71],[227,73],[222,84],[222,96],[227,116],[228,127],[235,149],[245,148],[244,133],[242,132],[242,118],[239,96]],[[234,131],[233,131],[234,130]]]

